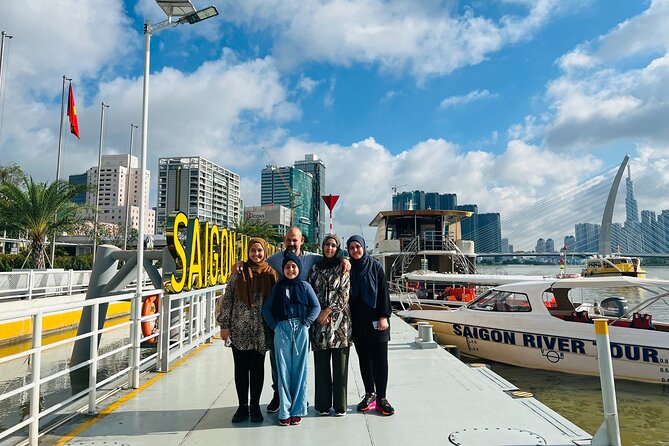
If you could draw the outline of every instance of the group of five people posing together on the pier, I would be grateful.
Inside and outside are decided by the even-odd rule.
[[[381,264],[359,235],[346,242],[348,259],[334,234],[324,237],[322,256],[301,249],[297,227],[288,230],[284,243],[285,251],[268,258],[266,241],[251,238],[248,260],[235,265],[217,304],[221,338],[234,360],[239,407],[232,422],[264,420],[260,396],[269,351],[274,395],[267,412],[278,411],[282,426],[300,424],[307,415],[310,345],[320,415],[346,415],[351,344],[365,386],[357,410],[392,415],[386,399],[391,306]]]

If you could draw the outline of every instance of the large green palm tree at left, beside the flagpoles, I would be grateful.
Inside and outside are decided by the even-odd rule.
[[[27,232],[33,266],[42,269],[47,235],[67,231],[75,224],[78,212],[85,206],[70,200],[87,187],[62,180],[35,183],[32,177],[25,176],[23,186],[0,183],[0,223],[8,229]]]

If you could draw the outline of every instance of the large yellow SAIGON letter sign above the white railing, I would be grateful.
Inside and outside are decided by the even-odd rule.
[[[184,242],[179,231],[186,230]],[[163,285],[168,293],[180,293],[191,289],[206,288],[227,281],[232,265],[237,259],[246,260],[248,236],[217,225],[200,221],[197,217],[188,219],[179,212],[170,216],[167,223],[167,247],[176,263],[174,272],[166,272]],[[276,251],[268,245],[267,255]]]

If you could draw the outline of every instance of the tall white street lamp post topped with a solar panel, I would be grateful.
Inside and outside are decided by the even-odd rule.
[[[190,0],[156,0],[156,3],[167,15],[167,19],[160,23],[151,25],[149,20],[144,22],[144,81],[142,92],[142,134],[141,134],[141,149],[139,154],[139,222],[137,228],[137,299],[132,309],[133,315],[133,337],[135,342],[140,339],[139,330],[139,310],[142,299],[142,285],[144,280],[144,201],[146,200],[147,190],[144,184],[144,177],[146,172],[146,152],[148,142],[148,123],[149,123],[149,74],[150,74],[150,60],[151,60],[151,36],[158,31],[165,28],[174,27],[183,23],[190,25],[201,22],[208,18],[218,15],[218,11],[214,6],[208,6],[200,9],[195,9]],[[176,20],[174,20],[176,19]],[[139,387],[139,349],[135,349],[136,354],[132,358],[132,377],[131,384],[133,388]]]

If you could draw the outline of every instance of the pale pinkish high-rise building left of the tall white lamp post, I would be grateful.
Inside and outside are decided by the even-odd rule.
[[[81,181],[75,175],[74,181]],[[139,229],[139,194],[140,175],[137,158],[130,155],[103,155],[100,164],[100,196],[98,201],[100,223],[125,224],[126,209],[129,206],[129,227]],[[85,212],[87,218],[94,218],[96,193],[98,190],[98,166],[86,172],[86,183],[90,190],[86,193],[86,204],[90,207]],[[156,214],[149,207],[149,186],[151,172],[144,172],[144,232],[154,234]]]

